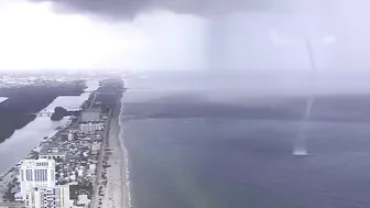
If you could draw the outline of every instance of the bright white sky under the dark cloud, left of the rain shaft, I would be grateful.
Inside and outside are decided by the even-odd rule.
[[[0,68],[199,68],[202,23],[166,11],[110,22],[12,1],[0,11]]]

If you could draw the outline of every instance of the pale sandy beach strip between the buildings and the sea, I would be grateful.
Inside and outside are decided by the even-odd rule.
[[[128,154],[123,145],[122,131],[120,131],[120,111],[117,107],[110,121],[109,146],[112,154],[109,156],[107,168],[107,186],[104,188],[105,195],[99,196],[97,206],[101,208],[130,208],[131,196],[129,191],[129,169]],[[100,200],[101,199],[101,200]]]

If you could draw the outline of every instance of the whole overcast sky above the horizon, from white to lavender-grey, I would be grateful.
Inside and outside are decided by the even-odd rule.
[[[366,0],[3,0],[0,69],[370,65]]]

